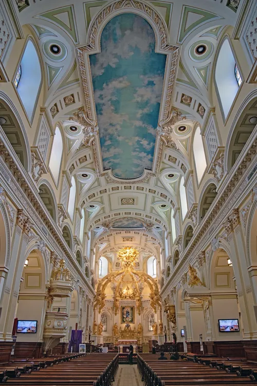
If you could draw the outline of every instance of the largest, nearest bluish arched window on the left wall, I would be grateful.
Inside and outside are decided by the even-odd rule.
[[[41,85],[41,66],[35,46],[31,40],[25,47],[23,57],[14,78],[14,85],[19,94],[29,120],[32,120]]]

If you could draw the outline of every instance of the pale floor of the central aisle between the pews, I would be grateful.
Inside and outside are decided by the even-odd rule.
[[[120,364],[114,386],[142,386],[137,365]]]

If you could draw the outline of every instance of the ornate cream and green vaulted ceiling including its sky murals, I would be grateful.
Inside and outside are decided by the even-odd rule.
[[[41,51],[45,106],[53,125],[62,123],[77,206],[101,251],[163,247],[179,179],[193,169],[194,127],[212,106],[216,49],[238,4],[26,0],[20,8]],[[83,120],[70,121],[79,108]],[[167,139],[174,108],[182,115]]]

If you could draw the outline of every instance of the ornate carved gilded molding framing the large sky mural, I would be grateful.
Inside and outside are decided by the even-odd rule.
[[[155,32],[156,52],[167,55],[166,71],[163,80],[163,93],[160,103],[159,127],[156,132],[153,167],[152,170],[144,169],[141,177],[126,181],[115,178],[111,170],[103,170],[93,83],[89,63],[89,55],[101,52],[100,38],[105,25],[114,16],[125,12],[136,13],[144,17],[144,19],[150,23]],[[77,47],[78,69],[85,106],[83,118],[86,129],[84,130],[85,139],[83,140],[83,145],[92,145],[97,176],[105,177],[108,183],[127,184],[129,182],[130,184],[136,184],[139,182],[146,182],[150,177],[156,177],[159,174],[163,148],[163,138],[161,137],[163,134],[162,126],[171,119],[171,102],[178,67],[179,47],[168,44],[168,29],[165,22],[162,20],[162,16],[149,4],[146,4],[141,0],[116,0],[113,3],[106,5],[91,21],[87,39],[87,45]],[[74,118],[75,117],[72,117],[71,119],[77,121]]]

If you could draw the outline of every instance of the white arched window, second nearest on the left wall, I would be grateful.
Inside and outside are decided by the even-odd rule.
[[[56,127],[56,133],[53,137],[52,150],[49,161],[49,169],[56,184],[58,184],[60,167],[63,154],[63,139],[59,127]]]

